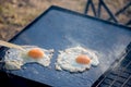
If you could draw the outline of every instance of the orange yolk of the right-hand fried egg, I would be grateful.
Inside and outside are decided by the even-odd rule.
[[[75,59],[75,61],[80,64],[88,64],[91,62],[91,59],[85,54],[81,54]]]

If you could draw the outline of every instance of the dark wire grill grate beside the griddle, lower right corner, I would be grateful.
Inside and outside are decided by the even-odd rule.
[[[130,65],[130,71],[127,71]],[[124,75],[123,75],[124,74]],[[130,87],[131,84],[131,42],[127,47],[127,54],[119,62],[107,70],[92,87]],[[119,84],[116,84],[119,83]]]

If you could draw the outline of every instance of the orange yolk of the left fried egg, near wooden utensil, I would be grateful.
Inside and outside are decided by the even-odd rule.
[[[31,49],[27,54],[31,58],[38,59],[44,57],[44,51],[38,48],[34,48],[34,49]]]

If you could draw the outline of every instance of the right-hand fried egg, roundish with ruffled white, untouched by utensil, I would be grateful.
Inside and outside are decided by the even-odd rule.
[[[98,64],[99,61],[96,51],[78,46],[59,51],[56,70],[83,72],[91,69],[92,65],[97,66]]]

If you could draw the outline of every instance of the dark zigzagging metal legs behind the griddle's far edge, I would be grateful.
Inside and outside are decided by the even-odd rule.
[[[94,16],[102,17],[100,16],[102,15],[102,8],[104,8],[106,10],[106,12],[108,13],[108,15],[109,15],[109,18],[107,18],[107,21],[111,21],[112,20],[115,23],[119,23],[116,16],[118,16],[120,13],[122,13],[123,11],[126,11],[126,9],[128,9],[130,5],[131,5],[131,2],[129,2],[127,5],[124,5],[122,9],[120,9],[118,12],[116,12],[114,14],[110,11],[110,9],[106,5],[106,3],[104,2],[104,0],[98,0],[98,7],[97,7],[97,9],[95,9],[93,0],[87,0],[84,14],[88,13],[88,10],[90,10],[90,7],[91,7],[92,11],[94,13]],[[129,22],[127,22],[124,25],[131,25],[131,20]]]

